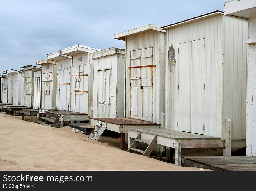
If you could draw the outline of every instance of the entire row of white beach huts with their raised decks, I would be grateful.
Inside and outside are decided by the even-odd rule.
[[[75,45],[36,66],[7,69],[0,109],[91,128],[95,140],[115,131],[121,149],[126,140],[128,151],[145,156],[174,152],[177,165],[183,148],[224,148],[230,156],[232,147],[246,147],[256,156],[255,7],[233,0],[224,13],[115,34],[125,49]]]

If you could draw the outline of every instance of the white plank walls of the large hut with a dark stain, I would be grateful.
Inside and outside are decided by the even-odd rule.
[[[232,121],[231,139],[245,139],[245,68],[247,53],[246,46],[243,43],[247,38],[247,22],[244,19],[223,16],[222,13],[216,12],[207,17],[198,17],[193,21],[190,20],[179,23],[176,26],[168,27],[169,29],[166,30],[165,60],[167,63],[168,48],[173,45],[176,53],[176,64],[165,65],[165,128],[173,130],[187,128],[186,131],[190,132],[187,127],[188,125],[179,127],[180,123],[189,123],[189,119],[182,122],[179,120],[179,116],[181,117],[179,110],[182,108],[182,103],[188,102],[189,104],[189,100],[193,97],[192,93],[198,93],[198,91],[193,92],[192,88],[192,92],[182,98],[182,94],[179,96],[179,90],[182,91],[180,89],[182,87],[179,86],[178,90],[177,86],[179,84],[189,83],[186,83],[188,81],[187,78],[179,78],[179,75],[186,72],[189,73],[190,68],[180,67],[180,64],[182,63],[182,58],[189,58],[191,51],[193,54],[193,50],[192,47],[191,50],[188,48],[185,54],[182,51],[178,51],[178,48],[181,46],[181,43],[190,42],[192,44],[195,40],[202,41],[204,39],[204,53],[199,53],[199,49],[196,49],[200,57],[195,57],[201,61],[204,60],[204,64],[201,67],[195,67],[194,70],[193,66],[195,65],[192,65],[191,73],[195,77],[194,79],[197,80],[194,81],[195,87],[203,88],[203,85],[205,85],[205,89],[203,89],[204,93],[203,95],[202,92],[200,93],[201,98],[198,99],[198,102],[195,103],[193,100],[191,102],[195,106],[198,106],[200,103],[199,100],[204,100],[203,105],[200,103],[200,111],[203,111],[203,113],[199,114],[192,107],[192,111],[196,115],[193,114],[191,125],[193,124],[194,130],[191,132],[224,139],[223,127],[225,126],[225,122],[223,119],[230,118]],[[183,54],[187,55],[187,57],[181,56]],[[189,60],[187,62],[189,63]],[[193,59],[191,62],[193,62]],[[202,66],[204,66],[204,69]],[[193,73],[193,71],[198,73]],[[191,80],[193,82],[192,78]],[[193,87],[193,84],[191,86]],[[178,126],[177,122],[179,122]],[[198,124],[199,122],[200,124]],[[205,126],[204,131],[203,126]]]

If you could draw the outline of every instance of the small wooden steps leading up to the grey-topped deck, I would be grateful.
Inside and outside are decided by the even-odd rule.
[[[140,142],[148,144],[147,149],[145,151],[136,148]],[[130,148],[128,148],[127,152],[136,151],[138,153],[142,153],[143,156],[149,156],[156,144],[157,144],[157,135],[155,135],[151,141],[147,141],[147,140],[141,139],[141,132],[140,132],[136,137],[136,139],[134,139],[134,141],[131,143],[131,146]]]

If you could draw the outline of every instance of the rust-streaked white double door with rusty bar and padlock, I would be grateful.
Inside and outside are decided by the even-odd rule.
[[[154,67],[152,47],[131,51],[129,67],[131,118],[152,121]]]

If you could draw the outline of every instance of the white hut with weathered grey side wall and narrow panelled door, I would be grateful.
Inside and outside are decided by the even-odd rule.
[[[124,49],[93,53],[93,117],[124,116]]]

